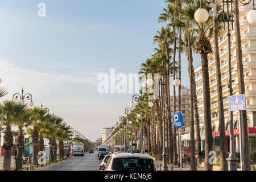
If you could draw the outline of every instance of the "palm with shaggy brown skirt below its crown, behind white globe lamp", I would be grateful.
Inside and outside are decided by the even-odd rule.
[[[202,2],[202,6],[209,10],[209,7],[205,2]],[[201,69],[203,73],[203,94],[204,94],[204,126],[205,126],[205,164],[204,168],[207,171],[212,170],[212,164],[209,164],[209,152],[213,150],[213,138],[212,138],[212,121],[210,115],[210,86],[209,86],[209,72],[208,72],[208,54],[212,53],[212,47],[210,40],[207,36],[207,32],[210,30],[212,23],[208,19],[205,23],[197,23],[194,19],[194,14],[200,7],[200,1],[196,0],[193,3],[187,3],[183,13],[185,19],[191,22],[189,26],[198,34],[197,41],[194,45],[196,53],[201,55]]]

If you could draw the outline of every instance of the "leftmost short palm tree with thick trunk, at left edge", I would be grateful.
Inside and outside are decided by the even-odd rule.
[[[11,131],[11,125],[13,125],[13,117],[15,102],[5,100],[3,101],[1,108],[1,125],[6,126],[3,136],[3,149],[5,154],[3,156],[3,171],[10,171],[11,168],[11,148],[13,147],[13,132]]]

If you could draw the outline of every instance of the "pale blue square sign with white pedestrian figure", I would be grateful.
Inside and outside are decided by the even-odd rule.
[[[229,96],[229,110],[246,110],[245,94],[237,96]]]

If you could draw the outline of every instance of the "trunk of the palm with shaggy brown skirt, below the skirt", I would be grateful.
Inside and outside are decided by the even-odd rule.
[[[209,152],[213,150],[212,139],[212,118],[210,115],[210,85],[208,72],[208,53],[201,53],[201,69],[203,73],[203,98],[204,98],[204,127],[205,127],[205,171],[212,171],[212,164],[209,164]]]

